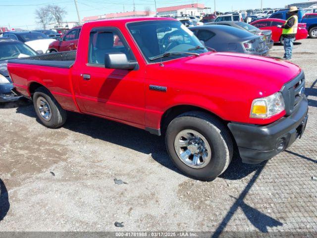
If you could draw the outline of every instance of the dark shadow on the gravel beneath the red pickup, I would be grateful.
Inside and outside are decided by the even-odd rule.
[[[16,113],[36,118],[37,122],[40,123],[40,120],[36,117],[33,105],[18,107]],[[145,130],[118,122],[72,112],[67,112],[67,120],[63,128],[144,154],[152,154],[152,158],[159,164],[182,174],[169,159],[163,136],[152,135]],[[226,172],[221,175],[221,178],[230,180],[241,179],[259,168],[261,168],[261,165],[243,164],[239,156],[235,155]]]

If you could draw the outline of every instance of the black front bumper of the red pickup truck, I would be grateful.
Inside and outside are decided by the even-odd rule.
[[[273,158],[301,137],[308,119],[308,102],[304,97],[295,111],[265,126],[228,123],[238,145],[243,163],[259,164]]]

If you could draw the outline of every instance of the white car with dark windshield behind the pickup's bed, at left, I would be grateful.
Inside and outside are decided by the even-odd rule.
[[[8,31],[3,32],[1,37],[25,43],[39,54],[46,53],[49,45],[55,41],[47,35],[36,31]]]

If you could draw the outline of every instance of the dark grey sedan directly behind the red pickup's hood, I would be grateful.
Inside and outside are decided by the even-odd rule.
[[[225,25],[204,25],[189,28],[205,46],[217,52],[236,52],[267,56],[264,36]]]

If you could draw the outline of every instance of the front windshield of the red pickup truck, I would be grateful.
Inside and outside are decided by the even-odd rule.
[[[153,57],[168,52],[199,54],[208,52],[194,33],[179,21],[155,20],[132,22],[128,24],[128,29],[147,61],[151,61]],[[197,50],[192,50],[192,48],[196,47],[198,47]],[[166,61],[185,56],[188,55],[170,55],[152,61]]]

